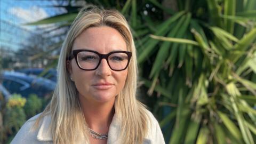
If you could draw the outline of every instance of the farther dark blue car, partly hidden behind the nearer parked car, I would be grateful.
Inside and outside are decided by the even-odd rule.
[[[45,70],[43,68],[26,68],[26,69],[20,69],[15,71],[20,73],[25,73],[27,75],[36,75],[36,76],[40,76],[41,74],[43,74],[42,77],[50,79],[53,82],[57,82],[57,70],[55,69]]]

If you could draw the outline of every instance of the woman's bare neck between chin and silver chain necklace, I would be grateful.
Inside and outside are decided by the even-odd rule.
[[[106,103],[89,102],[79,94],[79,101],[84,118],[90,129],[98,133],[108,133],[114,116],[115,99]]]

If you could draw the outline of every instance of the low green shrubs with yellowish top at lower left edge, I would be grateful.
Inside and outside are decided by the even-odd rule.
[[[0,143],[10,143],[26,120],[43,110],[42,105],[42,99],[35,94],[29,95],[27,100],[20,94],[11,95],[6,104],[1,105]]]

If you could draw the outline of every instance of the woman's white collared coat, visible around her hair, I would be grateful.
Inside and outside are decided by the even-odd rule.
[[[149,111],[149,117],[151,119],[151,129],[149,129],[147,137],[144,139],[144,144],[162,144],[164,142],[164,137],[161,132],[160,126],[156,118]],[[13,138],[11,144],[27,144],[27,143],[52,143],[51,130],[49,129],[51,123],[51,116],[47,115],[43,118],[42,123],[39,124],[37,130],[33,131],[30,128],[34,125],[36,119],[39,117],[38,114],[34,117],[28,119],[28,121],[23,124],[19,132]],[[114,115],[112,122],[108,131],[107,144],[118,144],[118,134],[121,132],[121,125],[119,124],[118,118]],[[85,141],[78,141],[77,143],[87,143]]]

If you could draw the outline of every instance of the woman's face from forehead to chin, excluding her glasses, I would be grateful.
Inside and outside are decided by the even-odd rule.
[[[85,49],[108,54],[113,51],[127,51],[122,35],[114,28],[101,26],[86,29],[73,44],[72,50]],[[102,59],[95,70],[82,70],[77,66],[75,58],[70,61],[69,71],[79,92],[79,97],[88,102],[114,101],[123,89],[127,69],[111,70],[107,60]]]

